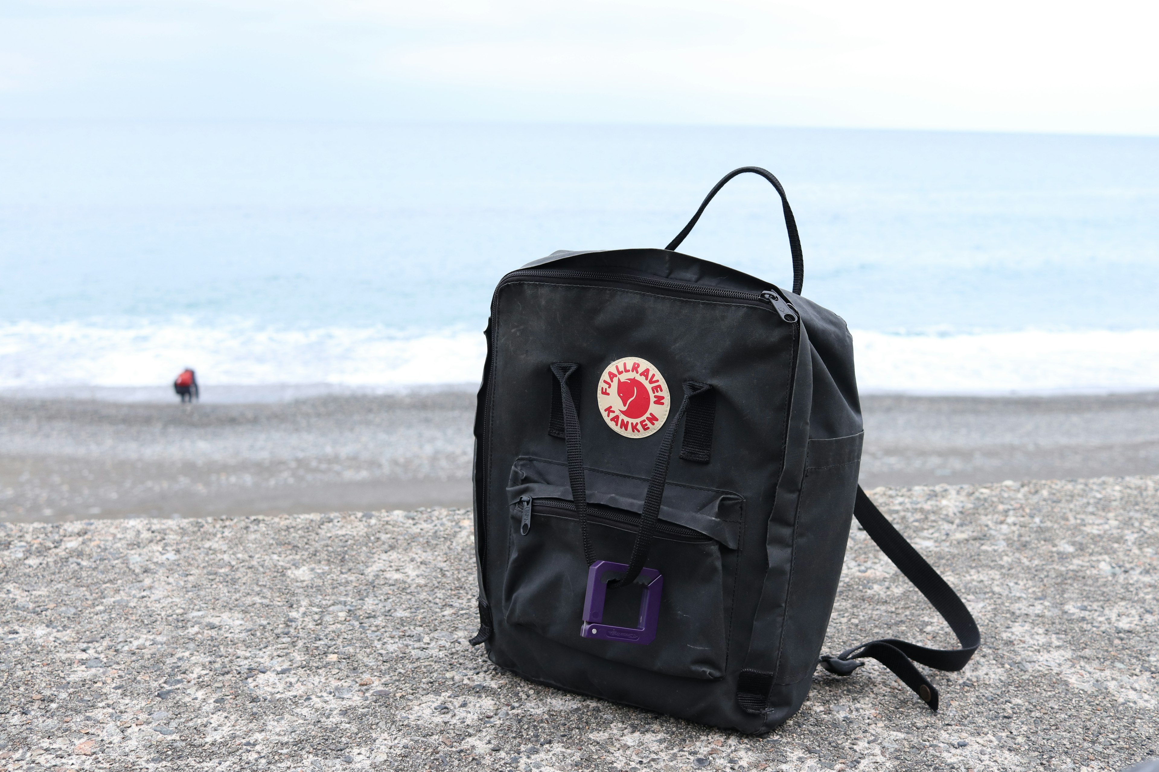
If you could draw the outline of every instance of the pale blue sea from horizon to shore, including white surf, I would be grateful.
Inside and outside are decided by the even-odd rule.
[[[1159,138],[719,126],[0,122],[0,394],[474,388],[490,295],[664,247],[739,166],[863,391],[1159,389]],[[744,176],[681,251],[790,285]]]

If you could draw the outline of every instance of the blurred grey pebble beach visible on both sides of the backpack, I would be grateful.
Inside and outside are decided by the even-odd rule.
[[[866,486],[1159,473],[1159,394],[866,396]],[[474,395],[0,398],[0,521],[471,503]]]

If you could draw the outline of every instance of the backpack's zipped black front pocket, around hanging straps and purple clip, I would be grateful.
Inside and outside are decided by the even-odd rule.
[[[648,480],[599,470],[588,470],[588,532],[593,557],[626,564],[639,529],[636,509],[642,509]],[[656,639],[636,645],[581,637],[588,563],[567,487],[567,468],[520,458],[512,469],[511,483],[509,558],[503,583],[504,616],[510,624],[655,672],[704,679],[723,675],[736,550],[704,531],[722,538],[732,535],[734,544],[739,541],[743,501],[738,495],[677,484],[665,488],[665,509],[644,564],[664,578]],[[680,506],[688,509],[680,512]],[[604,623],[635,626],[640,595],[637,586],[608,590]]]

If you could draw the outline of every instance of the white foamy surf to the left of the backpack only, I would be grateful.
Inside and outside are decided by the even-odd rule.
[[[481,332],[20,322],[0,325],[0,388],[160,387],[184,367],[206,385],[478,383],[486,353]]]

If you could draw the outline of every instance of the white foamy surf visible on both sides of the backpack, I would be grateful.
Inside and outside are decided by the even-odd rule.
[[[858,330],[853,339],[862,391],[1159,389],[1159,330],[946,336]],[[173,398],[168,384],[187,366],[214,400],[446,388],[478,384],[484,355],[480,332],[20,322],[0,325],[0,390]]]

